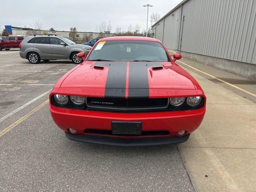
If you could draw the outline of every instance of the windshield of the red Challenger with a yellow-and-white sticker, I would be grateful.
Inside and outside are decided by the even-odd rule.
[[[161,43],[139,40],[98,42],[87,60],[170,61]]]

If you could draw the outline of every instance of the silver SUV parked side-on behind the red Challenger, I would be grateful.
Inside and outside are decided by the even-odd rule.
[[[20,57],[28,59],[32,64],[40,60],[49,61],[57,59],[69,59],[75,64],[82,62],[77,57],[79,52],[88,54],[91,46],[76,44],[62,36],[37,35],[28,36],[20,43]]]

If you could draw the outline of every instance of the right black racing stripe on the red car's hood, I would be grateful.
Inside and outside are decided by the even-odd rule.
[[[148,68],[162,66],[161,62],[130,62],[128,98],[149,98]]]

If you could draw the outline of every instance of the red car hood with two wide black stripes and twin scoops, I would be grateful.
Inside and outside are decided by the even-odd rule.
[[[126,90],[131,95],[144,95],[142,92],[147,94],[149,89],[195,89],[183,70],[170,62],[87,61],[70,73],[60,87],[102,88],[105,96],[106,92],[124,94]]]

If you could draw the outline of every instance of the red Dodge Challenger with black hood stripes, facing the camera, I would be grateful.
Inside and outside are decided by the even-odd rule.
[[[100,39],[50,94],[54,122],[71,140],[120,146],[185,142],[206,97],[157,39]]]

